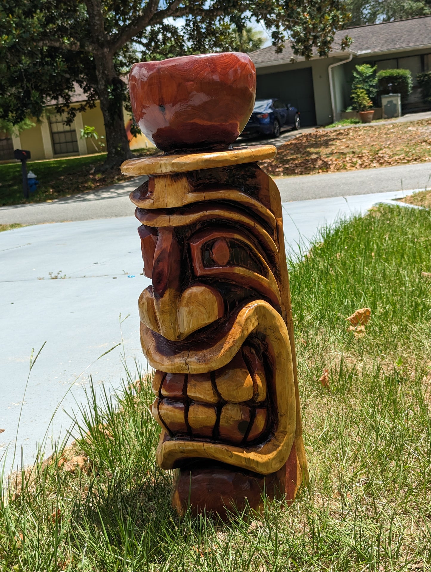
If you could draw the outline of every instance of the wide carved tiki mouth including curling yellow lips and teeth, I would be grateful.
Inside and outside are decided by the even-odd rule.
[[[286,462],[296,404],[290,341],[280,314],[264,300],[245,304],[216,339],[195,348],[141,323],[141,345],[163,428],[161,468],[211,459],[270,474]]]

